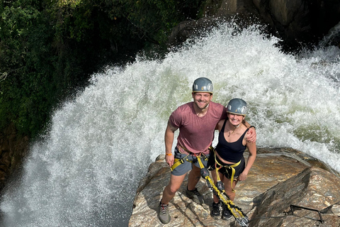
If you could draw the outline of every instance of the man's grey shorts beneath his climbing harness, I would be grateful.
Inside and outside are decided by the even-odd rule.
[[[183,158],[186,157],[187,154],[181,154],[179,152],[179,149],[175,148],[175,158]],[[206,157],[209,157],[209,155],[205,155]],[[186,159],[192,161],[192,162],[188,162],[186,161]],[[203,157],[201,156],[201,159],[203,165],[206,167],[208,164],[208,160],[203,160]],[[197,160],[197,157],[195,157],[194,155],[188,155],[188,157],[185,158],[184,162],[177,166],[174,170],[172,170],[171,175],[174,176],[181,176],[181,175],[185,175],[187,172],[189,172],[190,170],[193,169],[193,165],[196,165],[196,167],[200,168],[200,163]]]

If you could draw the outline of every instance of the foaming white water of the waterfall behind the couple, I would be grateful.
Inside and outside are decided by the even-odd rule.
[[[197,77],[212,80],[213,101],[248,102],[257,145],[302,150],[340,172],[339,48],[293,57],[255,27],[233,31],[222,25],[162,62],[94,74],[32,145],[2,198],[1,226],[128,226],[137,184],[164,153],[166,121]]]

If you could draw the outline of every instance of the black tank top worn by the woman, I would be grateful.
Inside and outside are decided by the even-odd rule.
[[[227,120],[225,120],[225,123]],[[242,140],[244,138],[244,135],[246,135],[246,132],[249,130],[249,128],[246,129],[246,131],[241,135],[241,137],[232,143],[228,143],[227,140],[225,140],[225,123],[223,123],[222,129],[220,133],[218,134],[218,143],[216,146],[216,151],[222,159],[228,161],[228,162],[239,162],[239,160],[242,159],[244,150],[246,150],[246,146],[242,144]]]

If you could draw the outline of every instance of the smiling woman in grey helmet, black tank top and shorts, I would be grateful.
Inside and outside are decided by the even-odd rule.
[[[246,102],[242,99],[232,99],[227,105],[225,120],[217,123],[216,129],[220,131],[218,143],[209,157],[209,165],[215,184],[221,180],[229,199],[234,201],[237,182],[246,179],[248,172],[256,158],[256,143],[246,141],[249,128],[242,123],[246,116]],[[249,157],[245,164],[244,150],[248,148]],[[224,204],[223,204],[224,205]],[[212,218],[220,217],[220,199],[214,194],[212,203]],[[229,209],[223,207],[222,219],[232,218]]]

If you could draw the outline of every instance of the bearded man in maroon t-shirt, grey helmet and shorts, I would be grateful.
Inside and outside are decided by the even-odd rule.
[[[209,147],[214,139],[215,127],[221,119],[227,118],[227,109],[221,104],[212,102],[212,82],[210,79],[200,77],[193,82],[193,101],[179,106],[172,112],[166,127],[165,159],[171,167],[171,178],[165,187],[163,197],[159,203],[159,220],[162,223],[170,222],[169,201],[174,198],[177,190],[186,177],[186,173],[191,170],[188,176],[188,186],[186,195],[198,204],[203,204],[203,196],[198,192],[196,184],[200,180],[200,166],[198,158],[203,165],[207,165]],[[246,123],[249,127],[249,123]],[[171,149],[174,142],[174,133],[179,128],[177,145],[172,155]],[[249,142],[256,140],[254,128],[249,129],[251,135]],[[184,159],[181,165],[174,160]]]

